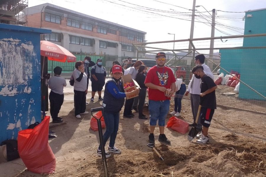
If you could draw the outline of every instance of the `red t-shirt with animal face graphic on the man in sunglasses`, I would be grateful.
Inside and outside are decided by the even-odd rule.
[[[171,84],[176,81],[175,76],[173,75],[173,71],[164,66],[163,68],[158,68],[157,66],[153,66],[150,68],[147,73],[146,79],[144,83],[153,83],[157,86],[165,87],[166,89],[171,89]],[[149,88],[148,91],[149,99],[153,101],[167,100],[171,99],[165,96],[164,92],[158,89]]]

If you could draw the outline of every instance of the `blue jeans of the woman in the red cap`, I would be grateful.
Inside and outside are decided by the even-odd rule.
[[[113,148],[118,132],[119,112],[110,113],[103,110],[103,118],[106,125],[106,130],[103,134],[103,145],[106,145],[106,142],[110,137],[109,147]],[[98,149],[101,149],[100,145]]]

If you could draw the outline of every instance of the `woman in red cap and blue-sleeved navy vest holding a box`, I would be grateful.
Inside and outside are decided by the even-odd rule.
[[[139,89],[133,90],[128,93],[124,93],[123,84],[121,82],[121,76],[123,75],[122,67],[119,65],[114,65],[112,68],[112,77],[105,84],[104,97],[103,97],[103,118],[106,124],[106,131],[103,134],[104,146],[110,137],[108,151],[106,152],[106,157],[110,157],[112,153],[120,154],[121,150],[114,146],[116,135],[118,132],[119,125],[119,112],[124,104],[124,98],[126,96],[131,96],[139,94]],[[97,150],[97,154],[102,156],[101,148]]]

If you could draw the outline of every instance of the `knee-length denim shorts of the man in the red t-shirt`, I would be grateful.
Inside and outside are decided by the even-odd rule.
[[[150,125],[165,126],[165,118],[168,114],[170,100],[153,101],[149,100]]]

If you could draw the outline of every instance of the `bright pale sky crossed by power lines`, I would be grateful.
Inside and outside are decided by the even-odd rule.
[[[44,3],[147,32],[147,42],[174,40],[174,37],[175,40],[181,40],[190,36],[190,9],[193,0],[28,0],[29,7]],[[215,37],[243,35],[244,11],[266,8],[266,1],[196,0],[196,6],[198,5],[200,7],[196,7],[195,11],[193,38],[211,36],[212,9],[216,10]],[[206,42],[199,42],[198,45],[210,45]],[[238,46],[241,45],[241,40],[228,40],[224,44],[220,40],[215,40],[215,45],[218,44]],[[176,42],[175,48],[187,48],[187,45],[188,42]],[[165,44],[163,47],[173,48],[173,43]]]

